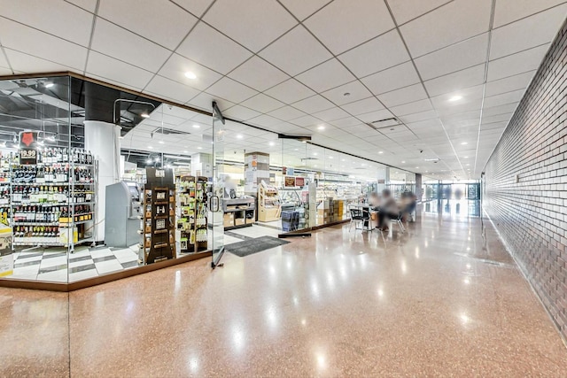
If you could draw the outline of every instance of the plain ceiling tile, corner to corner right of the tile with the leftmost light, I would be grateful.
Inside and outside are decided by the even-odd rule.
[[[237,69],[229,73],[229,77],[260,92],[290,78],[287,74],[257,56],[238,66]]]

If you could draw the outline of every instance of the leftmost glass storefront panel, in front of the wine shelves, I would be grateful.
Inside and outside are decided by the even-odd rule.
[[[67,282],[73,250],[69,77],[0,81],[0,276]],[[70,196],[71,195],[71,196]],[[11,248],[12,244],[12,248]],[[30,259],[31,258],[31,259]]]

